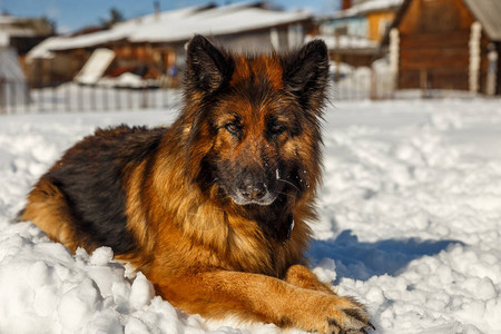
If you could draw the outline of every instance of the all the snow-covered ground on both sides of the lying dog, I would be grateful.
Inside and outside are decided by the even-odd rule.
[[[33,225],[9,223],[31,184],[96,126],[174,118],[0,117],[0,333],[245,333],[155,297],[109,248],[72,256]],[[365,303],[377,333],[501,333],[501,100],[336,102],[325,118],[314,272]]]

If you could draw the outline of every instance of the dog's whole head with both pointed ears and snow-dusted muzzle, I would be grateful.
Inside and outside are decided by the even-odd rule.
[[[246,57],[196,36],[185,77],[188,173],[206,194],[237,206],[285,204],[312,193],[327,77],[320,40]]]

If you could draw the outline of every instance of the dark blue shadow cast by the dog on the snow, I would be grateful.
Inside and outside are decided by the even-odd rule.
[[[307,257],[312,264],[323,258],[334,259],[337,274],[335,283],[343,277],[366,281],[384,274],[397,275],[411,261],[439,254],[454,244],[462,243],[419,238],[362,243],[352,230],[345,229],[334,240],[313,240]]]

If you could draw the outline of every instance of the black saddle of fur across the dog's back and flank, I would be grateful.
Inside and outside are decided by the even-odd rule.
[[[155,155],[165,129],[98,129],[84,138],[45,175],[70,208],[77,233],[90,244],[114,248],[117,254],[135,247],[126,229],[124,170]]]

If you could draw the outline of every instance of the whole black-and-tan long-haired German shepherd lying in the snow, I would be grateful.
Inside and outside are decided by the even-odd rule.
[[[177,120],[84,138],[20,219],[71,252],[111,247],[190,314],[366,333],[364,306],[305,266],[327,78],[321,40],[243,56],[195,36]]]

